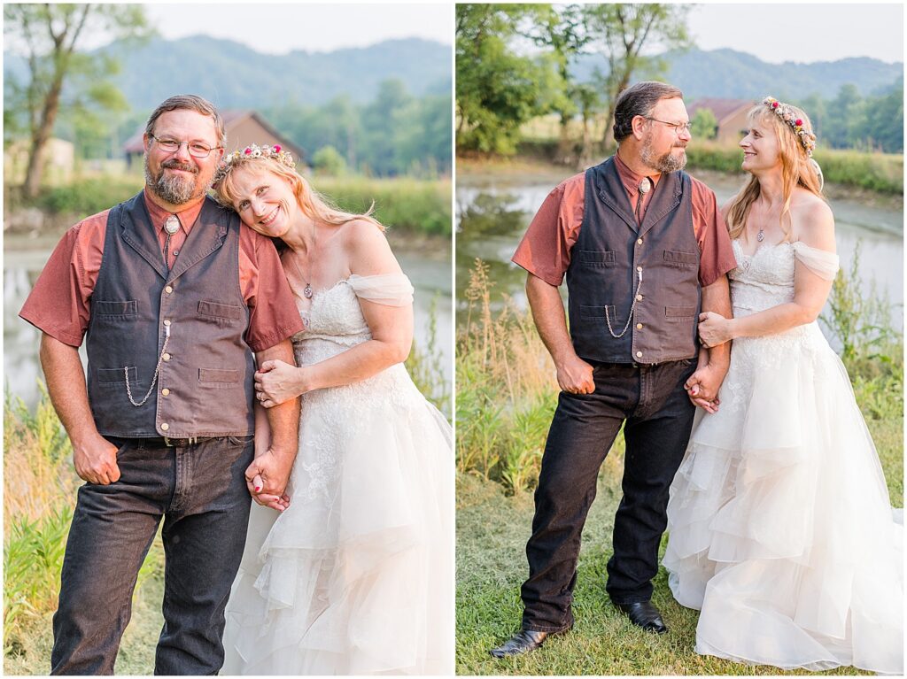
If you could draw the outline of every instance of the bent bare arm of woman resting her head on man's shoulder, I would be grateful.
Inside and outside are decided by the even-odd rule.
[[[402,274],[384,234],[363,220],[350,222],[342,247],[349,270],[359,276]],[[256,388],[265,393],[265,407],[316,389],[360,382],[391,365],[403,363],[413,345],[413,306],[387,306],[359,298],[372,339],[317,364],[295,368],[268,361],[256,374]]]

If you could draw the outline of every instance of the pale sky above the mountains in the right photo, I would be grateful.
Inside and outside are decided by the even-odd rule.
[[[764,62],[831,62],[869,56],[903,62],[903,5],[696,5],[697,47],[729,47]]]

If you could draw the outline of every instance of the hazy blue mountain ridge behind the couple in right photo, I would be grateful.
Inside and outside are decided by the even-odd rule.
[[[846,82],[863,96],[888,92],[902,82],[903,63],[884,63],[867,57],[835,62],[766,63],[752,54],[722,50],[667,53],[666,80],[693,102],[700,97],[761,99],[767,94],[783,100],[801,100],[816,93],[834,99]],[[607,72],[603,57],[583,54],[573,66],[580,82],[592,80],[596,67]]]

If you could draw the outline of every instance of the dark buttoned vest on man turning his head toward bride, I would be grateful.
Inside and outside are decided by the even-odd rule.
[[[641,225],[613,158],[586,170],[585,182],[580,236],[567,268],[576,353],[637,364],[696,356],[701,294],[689,176],[662,173]]]

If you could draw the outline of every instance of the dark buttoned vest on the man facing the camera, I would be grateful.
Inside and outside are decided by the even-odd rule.
[[[90,308],[88,397],[99,432],[253,432],[255,364],[245,340],[249,307],[239,288],[235,213],[206,198],[168,272],[142,193],[117,205]],[[148,399],[133,405],[131,398],[141,403],[149,393],[156,370]]]

